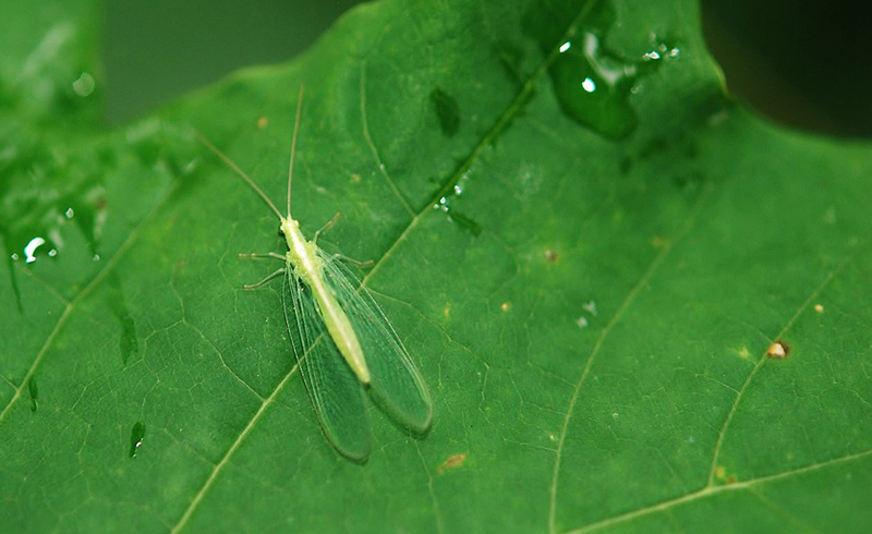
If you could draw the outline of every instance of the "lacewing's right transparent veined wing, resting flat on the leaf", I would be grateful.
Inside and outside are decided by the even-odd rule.
[[[373,400],[399,425],[417,434],[426,433],[433,420],[433,400],[409,351],[358,277],[332,256],[318,253],[327,284],[351,320],[363,349],[372,375]]]

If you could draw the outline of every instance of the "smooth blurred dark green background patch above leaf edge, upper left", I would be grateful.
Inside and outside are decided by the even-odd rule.
[[[106,118],[118,124],[243,66],[288,61],[360,0],[108,0]]]

